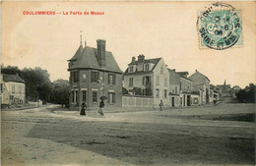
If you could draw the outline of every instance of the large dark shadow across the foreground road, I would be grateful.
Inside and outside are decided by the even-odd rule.
[[[66,120],[36,123],[27,137],[65,143],[138,165],[254,164],[254,138],[207,135],[208,131],[222,130],[218,127],[201,127],[205,136],[191,132],[181,135],[182,130],[188,133],[199,129],[164,124]]]

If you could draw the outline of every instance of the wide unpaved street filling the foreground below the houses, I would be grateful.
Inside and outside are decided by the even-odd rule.
[[[124,109],[124,108],[123,108]],[[2,165],[254,165],[255,104],[1,112]]]

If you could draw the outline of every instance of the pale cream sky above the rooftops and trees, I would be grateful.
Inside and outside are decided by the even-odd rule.
[[[211,83],[244,87],[256,83],[256,5],[227,2],[242,10],[243,46],[200,49],[198,11],[209,2],[2,2],[1,60],[5,66],[41,67],[50,80],[68,80],[68,62],[80,45],[106,40],[120,69],[132,57],[162,57],[170,69],[195,70]],[[55,11],[56,15],[24,15],[24,11]],[[104,15],[63,15],[63,12]],[[82,30],[82,32],[81,32]]]

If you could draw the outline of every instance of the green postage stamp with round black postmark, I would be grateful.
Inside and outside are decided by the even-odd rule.
[[[242,11],[224,3],[213,3],[199,11],[197,20],[200,48],[224,50],[243,46]]]

